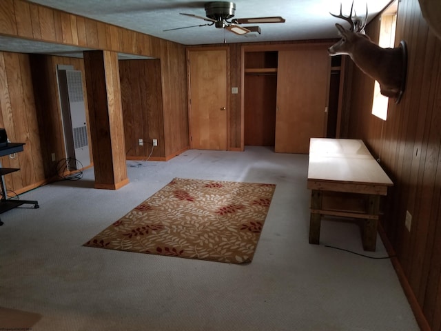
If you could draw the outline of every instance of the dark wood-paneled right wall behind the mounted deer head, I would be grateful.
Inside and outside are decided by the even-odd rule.
[[[441,40],[422,17],[418,0],[398,5],[396,45],[407,42],[407,88],[389,101],[387,121],[370,114],[373,81],[354,69],[349,137],[366,141],[394,182],[382,228],[424,317],[422,330],[441,330]],[[371,37],[378,21],[369,25]],[[412,215],[410,232],[404,225]],[[427,323],[426,323],[427,322]]]

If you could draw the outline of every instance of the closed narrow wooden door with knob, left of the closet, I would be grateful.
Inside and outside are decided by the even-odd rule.
[[[190,146],[227,150],[227,49],[189,51]]]

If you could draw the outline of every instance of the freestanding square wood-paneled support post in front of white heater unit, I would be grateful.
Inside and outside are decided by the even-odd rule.
[[[103,50],[86,51],[84,67],[95,188],[117,190],[129,183],[125,163],[118,54]]]

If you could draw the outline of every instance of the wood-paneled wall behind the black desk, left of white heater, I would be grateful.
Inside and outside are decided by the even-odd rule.
[[[11,141],[26,144],[15,159],[1,158],[4,167],[21,169],[5,177],[7,187],[17,193],[54,177],[57,161],[65,158],[57,64],[84,72],[82,59],[0,52],[0,127]],[[86,99],[85,106],[87,111]]]

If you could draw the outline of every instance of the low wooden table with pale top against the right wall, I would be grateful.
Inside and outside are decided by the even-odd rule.
[[[320,242],[323,215],[360,222],[363,248],[376,250],[380,197],[393,183],[361,140],[311,138],[309,243]]]

